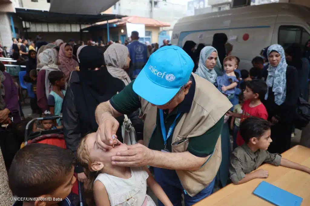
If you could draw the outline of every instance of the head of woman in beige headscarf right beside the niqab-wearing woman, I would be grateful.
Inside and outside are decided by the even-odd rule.
[[[130,57],[128,48],[123,44],[111,44],[104,52],[104,61],[108,72],[122,80],[125,85],[131,82],[126,70],[129,68]]]

